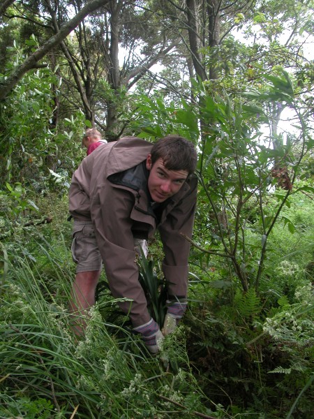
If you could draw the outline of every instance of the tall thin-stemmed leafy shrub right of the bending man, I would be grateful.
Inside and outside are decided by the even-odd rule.
[[[207,82],[194,81],[195,96],[200,97],[198,106],[182,100],[181,108],[176,109],[158,97],[143,98],[133,122],[137,130],[142,129],[138,135],[143,137],[158,138],[175,131],[197,142],[201,208],[201,219],[198,214],[196,219],[196,225],[200,222],[197,241],[199,246],[200,242],[207,243],[201,251],[212,258],[225,256],[245,292],[253,287],[257,293],[275,226],[283,221],[290,233],[295,232],[283,208],[302,174],[301,161],[311,148],[310,131],[301,129],[302,110],[295,101],[290,76],[276,68],[274,74],[263,75],[263,80],[262,89],[248,88],[237,98],[213,94]],[[271,124],[272,110],[267,104],[274,101],[294,108],[301,124],[298,140],[292,142],[287,137],[286,144],[278,141],[276,147],[267,145],[260,131],[265,122]],[[277,172],[278,167],[283,171]],[[269,205],[272,196],[277,201]]]

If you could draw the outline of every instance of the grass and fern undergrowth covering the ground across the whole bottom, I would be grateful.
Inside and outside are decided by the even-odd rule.
[[[65,207],[56,223],[15,226],[0,248],[0,417],[311,418],[313,233],[306,217],[298,207],[303,236],[276,230],[260,289],[248,293],[225,260],[193,249],[188,311],[157,356],[133,335],[105,274],[85,337],[70,332],[75,267]],[[159,259],[160,244],[151,242],[140,270],[162,323]]]

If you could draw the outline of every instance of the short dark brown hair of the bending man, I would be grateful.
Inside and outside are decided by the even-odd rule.
[[[197,154],[193,142],[179,135],[167,135],[155,142],[151,149],[151,163],[154,165],[160,158],[167,170],[187,170],[190,175],[196,168]]]

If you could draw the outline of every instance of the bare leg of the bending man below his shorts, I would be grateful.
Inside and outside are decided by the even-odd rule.
[[[78,272],[70,293],[70,311],[73,316],[72,329],[75,335],[84,335],[86,321],[81,317],[95,304],[95,292],[100,276],[100,270]]]

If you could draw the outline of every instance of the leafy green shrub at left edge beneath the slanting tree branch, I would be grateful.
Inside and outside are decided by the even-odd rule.
[[[36,41],[31,37],[30,42]],[[8,72],[23,58],[18,45],[10,50],[15,61],[8,66]],[[82,159],[75,136],[78,133],[81,137],[84,117],[82,112],[75,112],[76,115],[63,119],[61,126],[57,124],[55,104],[60,84],[61,79],[50,68],[40,68],[27,73],[10,98],[0,103],[2,187],[20,183],[37,193],[51,189],[50,170],[65,179],[62,184],[57,182],[60,186],[68,187],[70,176]]]

